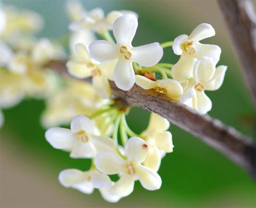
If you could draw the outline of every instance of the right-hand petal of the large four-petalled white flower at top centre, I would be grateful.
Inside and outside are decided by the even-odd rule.
[[[150,43],[132,49],[132,59],[142,66],[154,66],[163,57],[163,48],[159,43]]]

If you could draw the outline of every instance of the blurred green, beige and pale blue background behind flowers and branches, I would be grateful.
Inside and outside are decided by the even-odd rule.
[[[65,36],[69,20],[65,1],[2,1],[40,13],[46,22],[39,37]],[[173,40],[189,34],[198,24],[210,23],[216,36],[204,43],[222,48],[219,65],[228,65],[220,90],[206,92],[213,102],[210,116],[219,118],[255,138],[255,112],[217,1],[83,1],[88,10],[101,7],[133,10],[139,14],[134,45]],[[178,57],[166,48],[163,62]],[[39,118],[44,100],[26,99],[15,108],[4,110],[1,129],[1,207],[255,207],[255,183],[240,167],[199,139],[171,124],[174,152],[162,160],[159,174],[162,188],[135,191],[116,204],[105,202],[98,191],[84,195],[63,188],[58,173],[66,168],[86,170],[88,160],[70,159],[64,151],[53,149],[44,138]],[[148,112],[135,108],[128,122],[135,132],[147,125]]]

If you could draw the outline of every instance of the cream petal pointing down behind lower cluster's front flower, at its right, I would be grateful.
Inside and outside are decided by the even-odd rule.
[[[161,151],[159,150],[158,147],[156,146],[148,147],[148,154],[143,164],[146,167],[157,172],[161,165],[161,158],[162,158],[161,156],[162,156]]]

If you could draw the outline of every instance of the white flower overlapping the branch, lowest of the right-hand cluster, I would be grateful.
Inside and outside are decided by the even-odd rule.
[[[204,90],[218,90],[224,81],[226,70],[227,66],[223,65],[216,68],[211,58],[199,59],[193,69],[194,78],[189,80],[180,101],[196,109],[200,114],[206,114],[211,110],[212,104]]]

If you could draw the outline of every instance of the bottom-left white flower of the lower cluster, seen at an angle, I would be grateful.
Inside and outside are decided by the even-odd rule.
[[[117,202],[121,198],[111,195],[112,181],[108,175],[100,173],[97,169],[80,171],[77,169],[66,169],[59,173],[59,182],[66,188],[77,189],[84,194],[92,194],[94,189],[99,189],[101,196],[109,202]]]

